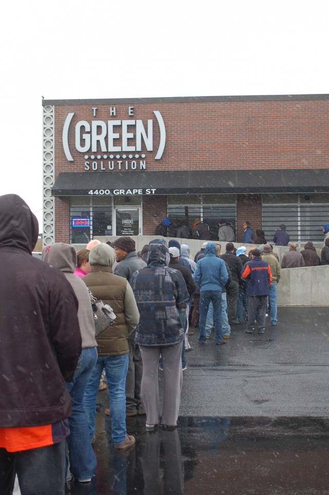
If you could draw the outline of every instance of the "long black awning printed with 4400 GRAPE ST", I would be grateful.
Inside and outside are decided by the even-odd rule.
[[[53,196],[329,192],[328,169],[62,172]]]

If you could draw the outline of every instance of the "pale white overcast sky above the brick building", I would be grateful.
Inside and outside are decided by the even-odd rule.
[[[42,96],[329,93],[328,13],[327,0],[6,2],[0,195],[42,222]]]

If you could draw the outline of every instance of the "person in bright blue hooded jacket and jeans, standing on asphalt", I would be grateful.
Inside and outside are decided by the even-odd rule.
[[[222,289],[228,280],[224,261],[217,258],[216,246],[209,242],[205,248],[205,257],[196,264],[193,278],[200,287],[199,303],[199,344],[206,342],[206,320],[210,301],[213,304],[216,344],[225,344],[222,326]]]

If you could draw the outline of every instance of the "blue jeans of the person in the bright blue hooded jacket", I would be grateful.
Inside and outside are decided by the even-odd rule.
[[[200,321],[199,321],[199,342],[206,340],[206,320],[209,304],[213,304],[213,318],[215,327],[215,340],[223,340],[222,328],[222,291],[221,290],[202,290],[200,291]]]

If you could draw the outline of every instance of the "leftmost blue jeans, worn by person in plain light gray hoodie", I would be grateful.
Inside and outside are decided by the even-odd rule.
[[[88,419],[83,408],[84,393],[97,360],[97,347],[82,349],[73,381],[66,383],[72,399],[72,414],[68,418],[70,435],[67,437],[70,471],[79,481],[89,480],[95,472],[97,461],[92,444]]]

